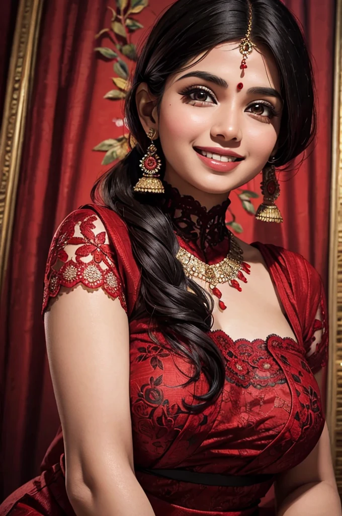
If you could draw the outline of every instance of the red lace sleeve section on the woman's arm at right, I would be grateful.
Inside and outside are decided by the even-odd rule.
[[[328,364],[329,326],[327,303],[323,287],[312,328],[305,342],[306,361],[314,374]]]

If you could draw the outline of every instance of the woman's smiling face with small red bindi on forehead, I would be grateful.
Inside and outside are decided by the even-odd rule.
[[[257,175],[275,151],[282,112],[275,61],[266,49],[254,48],[242,74],[241,60],[236,42],[216,46],[196,65],[170,76],[159,114],[153,108],[166,159],[165,180],[182,193],[196,189],[224,199]],[[199,71],[216,76],[220,84],[192,75]],[[201,158],[198,148],[208,147],[216,154],[235,154],[220,165],[215,156]],[[236,154],[242,159],[230,163]]]

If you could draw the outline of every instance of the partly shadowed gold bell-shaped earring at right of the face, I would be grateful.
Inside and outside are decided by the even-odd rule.
[[[279,208],[275,205],[275,200],[280,195],[280,186],[276,178],[276,167],[274,165],[267,164],[263,168],[261,192],[264,200],[257,209],[255,218],[264,222],[283,222]]]

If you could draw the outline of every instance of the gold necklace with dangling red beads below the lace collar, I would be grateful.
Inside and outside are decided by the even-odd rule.
[[[188,278],[199,278],[209,283],[212,294],[218,298],[218,306],[221,310],[226,310],[227,307],[221,301],[222,293],[217,288],[217,285],[228,282],[231,287],[241,292],[242,288],[236,278],[247,283],[247,278],[244,276],[243,271],[246,274],[250,274],[250,265],[243,261],[243,250],[238,245],[231,231],[229,231],[229,242],[230,249],[227,256],[213,265],[202,262],[183,247],[180,247],[176,254],[176,258],[182,264],[185,275]]]

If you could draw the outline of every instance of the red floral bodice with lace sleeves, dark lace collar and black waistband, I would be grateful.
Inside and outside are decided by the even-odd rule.
[[[228,202],[207,212],[190,196],[180,197],[172,189],[162,209],[173,215],[175,230],[182,233],[188,249],[196,248],[198,257],[204,255],[213,263],[225,246],[227,250],[224,212]],[[175,216],[181,203],[181,217]],[[314,374],[326,365],[328,356],[321,279],[299,254],[273,245],[253,245],[269,268],[296,340],[271,334],[266,340],[250,342],[242,334],[233,341],[221,330],[209,332],[223,354],[226,382],[214,404],[191,414],[182,398],[192,404],[194,393],[207,392],[206,378],[202,374],[195,384],[180,387],[191,365],[163,347],[161,334],[160,345],[150,340],[147,320],[131,320],[130,402],[136,465],[276,475],[301,462],[316,445],[324,415]],[[55,234],[46,267],[43,313],[61,286],[82,284],[102,288],[113,300],[119,298],[129,316],[139,280],[122,219],[108,208],[88,205],[66,217]],[[63,452],[62,444],[60,430],[42,468],[54,463]],[[138,471],[136,477],[157,516],[252,516],[272,485],[270,480],[244,488],[203,486]]]

